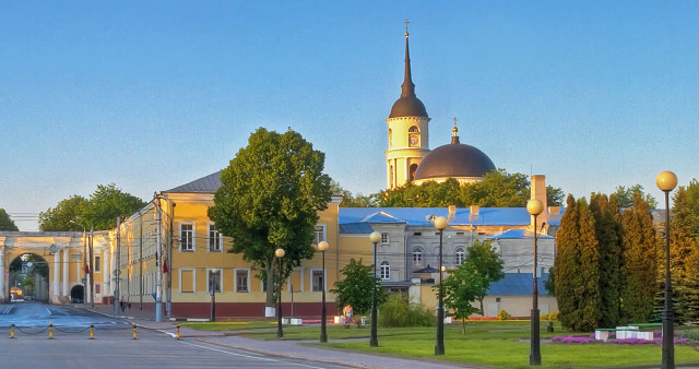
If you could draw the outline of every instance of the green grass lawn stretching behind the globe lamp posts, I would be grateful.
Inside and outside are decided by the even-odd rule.
[[[227,323],[202,323],[227,324]],[[268,328],[269,322],[268,322]],[[461,332],[461,323],[445,326],[446,355],[439,359],[474,366],[499,368],[529,367],[529,321],[475,321],[466,325],[466,334]],[[225,329],[223,329],[225,330]],[[558,323],[554,333],[545,332],[542,324],[542,340],[555,335],[589,336],[590,333],[570,333]],[[356,325],[328,325],[331,342],[323,346],[394,356],[424,357],[435,359],[435,328],[379,328],[379,347],[369,347],[370,329]],[[276,330],[257,330],[245,333],[259,340],[277,340]],[[318,340],[319,326],[285,326],[284,340]],[[355,340],[353,340],[355,338]],[[343,341],[344,340],[344,341]],[[320,345],[320,344],[318,344]],[[676,365],[699,364],[696,344],[676,344]],[[661,345],[643,344],[549,344],[543,343],[542,367],[544,368],[636,368],[659,367]]]

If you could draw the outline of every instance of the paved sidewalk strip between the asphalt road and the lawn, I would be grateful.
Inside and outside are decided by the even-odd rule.
[[[90,310],[96,313],[115,317],[114,306],[74,305],[78,308]],[[155,322],[155,313],[152,311],[139,310],[138,306],[131,305],[131,309],[119,311],[117,318],[126,319],[137,323],[139,326],[156,330],[175,337],[177,332],[177,321],[169,321],[163,317],[163,322]],[[296,359],[307,359],[320,362],[353,366],[356,368],[466,368],[459,365],[447,365],[437,360],[405,359],[400,357],[362,354],[351,350],[333,349],[327,347],[312,346],[316,341],[261,341],[248,338],[241,335],[225,335],[222,332],[204,332],[180,328],[180,337],[191,338],[202,343],[244,349],[252,353],[264,354],[276,357],[289,357]],[[332,340],[330,340],[332,341]],[[367,340],[367,345],[368,345]]]

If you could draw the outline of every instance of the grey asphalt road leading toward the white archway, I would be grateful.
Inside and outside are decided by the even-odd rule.
[[[54,323],[49,340],[48,322]],[[22,323],[22,325],[20,324]],[[15,338],[9,325],[14,323]],[[90,324],[95,325],[90,340]],[[81,309],[38,302],[0,306],[0,368],[346,368],[289,359],[138,329]]]

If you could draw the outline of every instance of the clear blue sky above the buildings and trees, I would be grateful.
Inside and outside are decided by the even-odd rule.
[[[144,200],[300,132],[353,193],[386,188],[410,19],[430,146],[588,197],[698,178],[696,1],[5,1],[0,207],[21,230],[114,182]],[[20,218],[21,215],[34,218]]]

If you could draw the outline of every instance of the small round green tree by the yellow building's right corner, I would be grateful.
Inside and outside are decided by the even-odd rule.
[[[350,260],[341,271],[344,278],[334,283],[335,302],[339,307],[351,305],[357,314],[364,314],[371,310],[374,289],[377,290],[377,307],[386,301],[386,291],[381,287],[381,281],[374,275],[374,265],[363,265],[362,259],[357,262]]]

